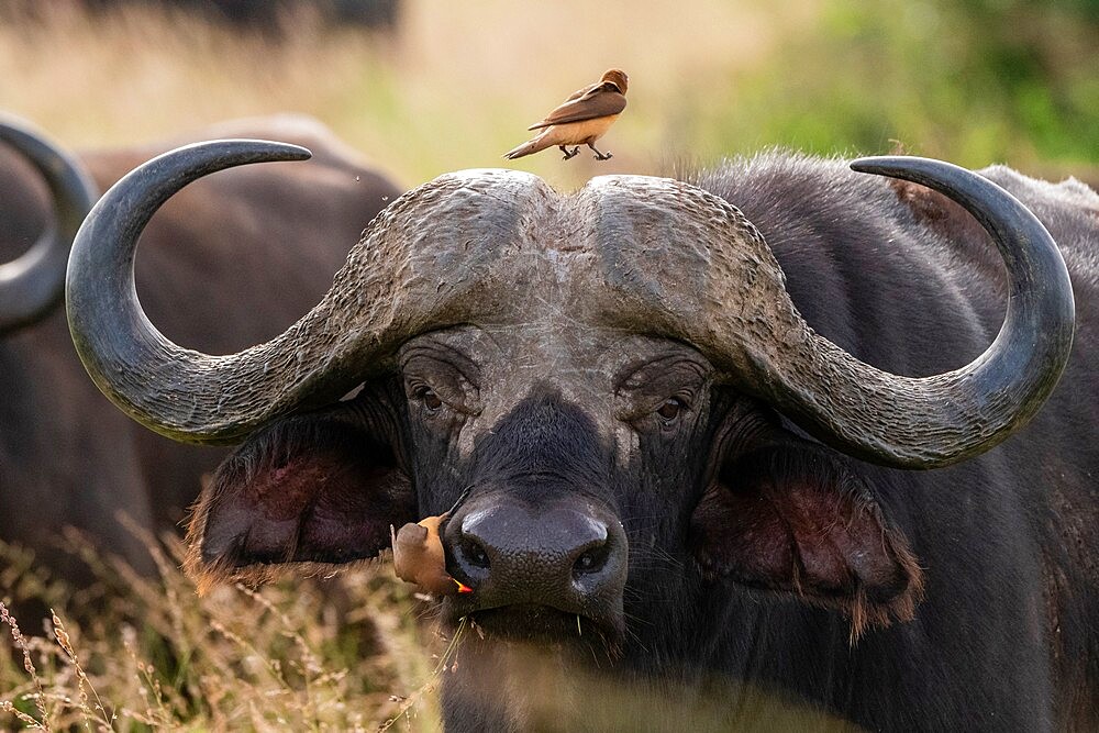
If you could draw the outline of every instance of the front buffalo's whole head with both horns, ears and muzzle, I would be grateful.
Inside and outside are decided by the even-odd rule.
[[[759,232],[703,190],[610,176],[562,196],[509,170],[396,201],[277,338],[229,356],[168,342],[134,296],[145,222],[208,173],[304,155],[241,141],[168,154],[104,197],[74,249],[70,326],[100,388],[165,435],[243,441],[192,522],[206,579],[374,557],[391,525],[453,507],[445,569],[473,592],[444,610],[490,640],[629,655],[631,626],[659,636],[675,599],[718,576],[856,628],[908,618],[921,579],[904,537],[845,458],[781,418],[861,459],[948,465],[1025,423],[1072,344],[1042,225],[919,158],[854,167],[964,206],[1011,282],[995,343],[946,374],[887,374],[814,333]]]

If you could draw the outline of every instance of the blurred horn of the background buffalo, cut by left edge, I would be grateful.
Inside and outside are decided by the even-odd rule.
[[[34,323],[60,302],[69,245],[99,191],[80,163],[30,123],[0,115],[0,142],[42,175],[54,219],[18,259],[0,264],[0,336]]]

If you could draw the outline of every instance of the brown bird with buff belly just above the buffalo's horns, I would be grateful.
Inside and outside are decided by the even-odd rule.
[[[580,145],[586,144],[596,152],[597,160],[607,160],[610,153],[600,153],[596,141],[602,137],[625,109],[625,88],[629,78],[625,71],[610,69],[590,87],[585,87],[552,111],[541,122],[535,122],[528,130],[542,132],[526,141],[503,157],[521,158],[531,153],[544,151],[556,145],[568,160],[580,152]],[[575,147],[569,151],[568,145]]]

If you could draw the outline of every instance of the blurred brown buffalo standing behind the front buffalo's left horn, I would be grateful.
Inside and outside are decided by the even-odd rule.
[[[203,181],[145,231],[137,288],[151,314],[174,337],[231,352],[269,338],[315,302],[365,223],[399,191],[306,118],[225,123],[210,134],[289,135],[318,151],[317,165]],[[0,120],[0,141],[11,146],[0,148],[0,262],[18,257],[0,266],[0,540],[82,581],[80,564],[57,548],[62,527],[73,525],[143,567],[147,551],[116,513],[171,527],[224,454],[120,421],[89,389],[64,309],[51,308],[96,186],[182,141],[73,156],[10,119]]]

